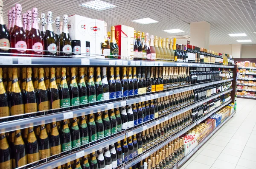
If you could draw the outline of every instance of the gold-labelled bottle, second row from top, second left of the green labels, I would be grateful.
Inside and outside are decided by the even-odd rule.
[[[39,80],[38,80],[38,90],[37,90],[37,103],[38,111],[41,112],[40,115],[48,114],[49,110],[49,101],[48,101],[48,92],[44,83],[44,68],[39,68]]]

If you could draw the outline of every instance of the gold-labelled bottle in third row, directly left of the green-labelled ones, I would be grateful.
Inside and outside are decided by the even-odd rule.
[[[58,158],[61,153],[61,139],[57,128],[57,123],[51,123],[51,134],[49,135],[49,144],[51,149],[51,156]]]

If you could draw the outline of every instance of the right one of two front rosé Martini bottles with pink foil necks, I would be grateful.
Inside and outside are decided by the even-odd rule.
[[[29,54],[43,54],[43,36],[41,35],[39,31],[38,26],[38,9],[32,8],[32,28],[29,31],[29,34],[27,36],[27,45],[29,49],[32,49],[31,51],[28,51]]]

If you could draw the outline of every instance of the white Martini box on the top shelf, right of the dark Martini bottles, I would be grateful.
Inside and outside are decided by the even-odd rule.
[[[104,42],[104,24],[103,20],[91,19],[76,14],[68,17],[70,38],[71,40],[81,41],[81,56],[105,58],[100,56],[101,42]],[[79,57],[81,56],[79,55]]]

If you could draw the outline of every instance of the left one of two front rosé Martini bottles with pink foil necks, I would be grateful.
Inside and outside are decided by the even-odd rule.
[[[11,48],[15,48],[15,49],[12,49],[12,53],[26,54],[27,36],[21,21],[22,8],[19,3],[15,5],[15,11],[16,11],[15,25],[12,28],[12,32],[10,34]]]

